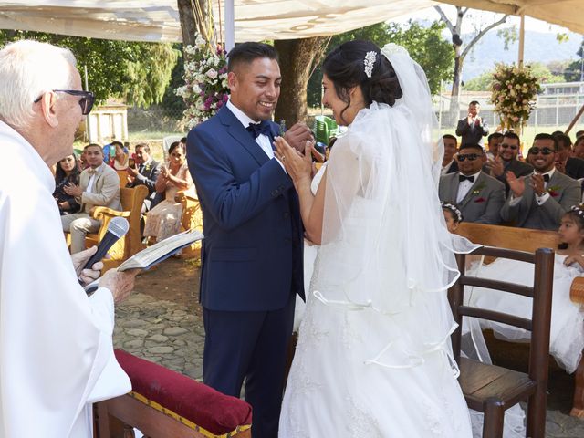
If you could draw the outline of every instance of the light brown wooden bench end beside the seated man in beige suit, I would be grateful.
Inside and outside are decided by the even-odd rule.
[[[130,256],[138,253],[144,247],[140,230],[140,218],[142,203],[148,196],[148,188],[145,185],[138,185],[134,188],[120,189],[120,203],[123,211],[119,212],[108,207],[95,207],[92,217],[101,221],[99,232],[87,235],[85,242],[89,247],[98,245],[99,241],[108,231],[110,220],[116,216],[125,217],[130,223],[130,230],[124,238],[113,245],[109,251],[111,258],[104,259],[104,272],[112,267],[120,266],[121,263]]]

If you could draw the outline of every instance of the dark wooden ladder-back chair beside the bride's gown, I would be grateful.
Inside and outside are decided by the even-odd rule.
[[[456,255],[461,276],[448,292],[454,319],[459,327],[452,336],[454,359],[460,368],[459,381],[466,403],[485,413],[483,437],[503,436],[505,411],[527,400],[527,437],[544,438],[546,431],[547,366],[549,361],[549,324],[554,274],[554,251],[538,249],[536,254],[484,246],[474,255],[503,257],[535,263],[534,286],[525,287],[498,280],[464,275],[466,255]],[[493,310],[464,305],[464,286],[485,287],[533,298],[531,320]],[[508,370],[460,355],[463,317],[497,321],[531,331],[529,372]]]

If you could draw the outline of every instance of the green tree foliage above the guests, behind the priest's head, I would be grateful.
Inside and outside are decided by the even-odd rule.
[[[129,105],[143,107],[162,100],[180,55],[170,44],[0,30],[0,46],[19,39],[68,47],[77,57],[83,82],[87,67],[89,89],[98,101],[121,98]]]

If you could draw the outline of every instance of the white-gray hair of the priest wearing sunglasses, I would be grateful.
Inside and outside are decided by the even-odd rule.
[[[71,67],[76,65],[68,48],[31,40],[6,45],[0,50],[0,119],[26,128],[38,97],[73,86]]]

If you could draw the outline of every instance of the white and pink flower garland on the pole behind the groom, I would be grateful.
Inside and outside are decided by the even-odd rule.
[[[197,35],[195,44],[184,48],[183,87],[175,89],[184,99],[183,122],[190,130],[214,116],[229,99],[227,87],[227,57],[223,47],[210,45]]]

